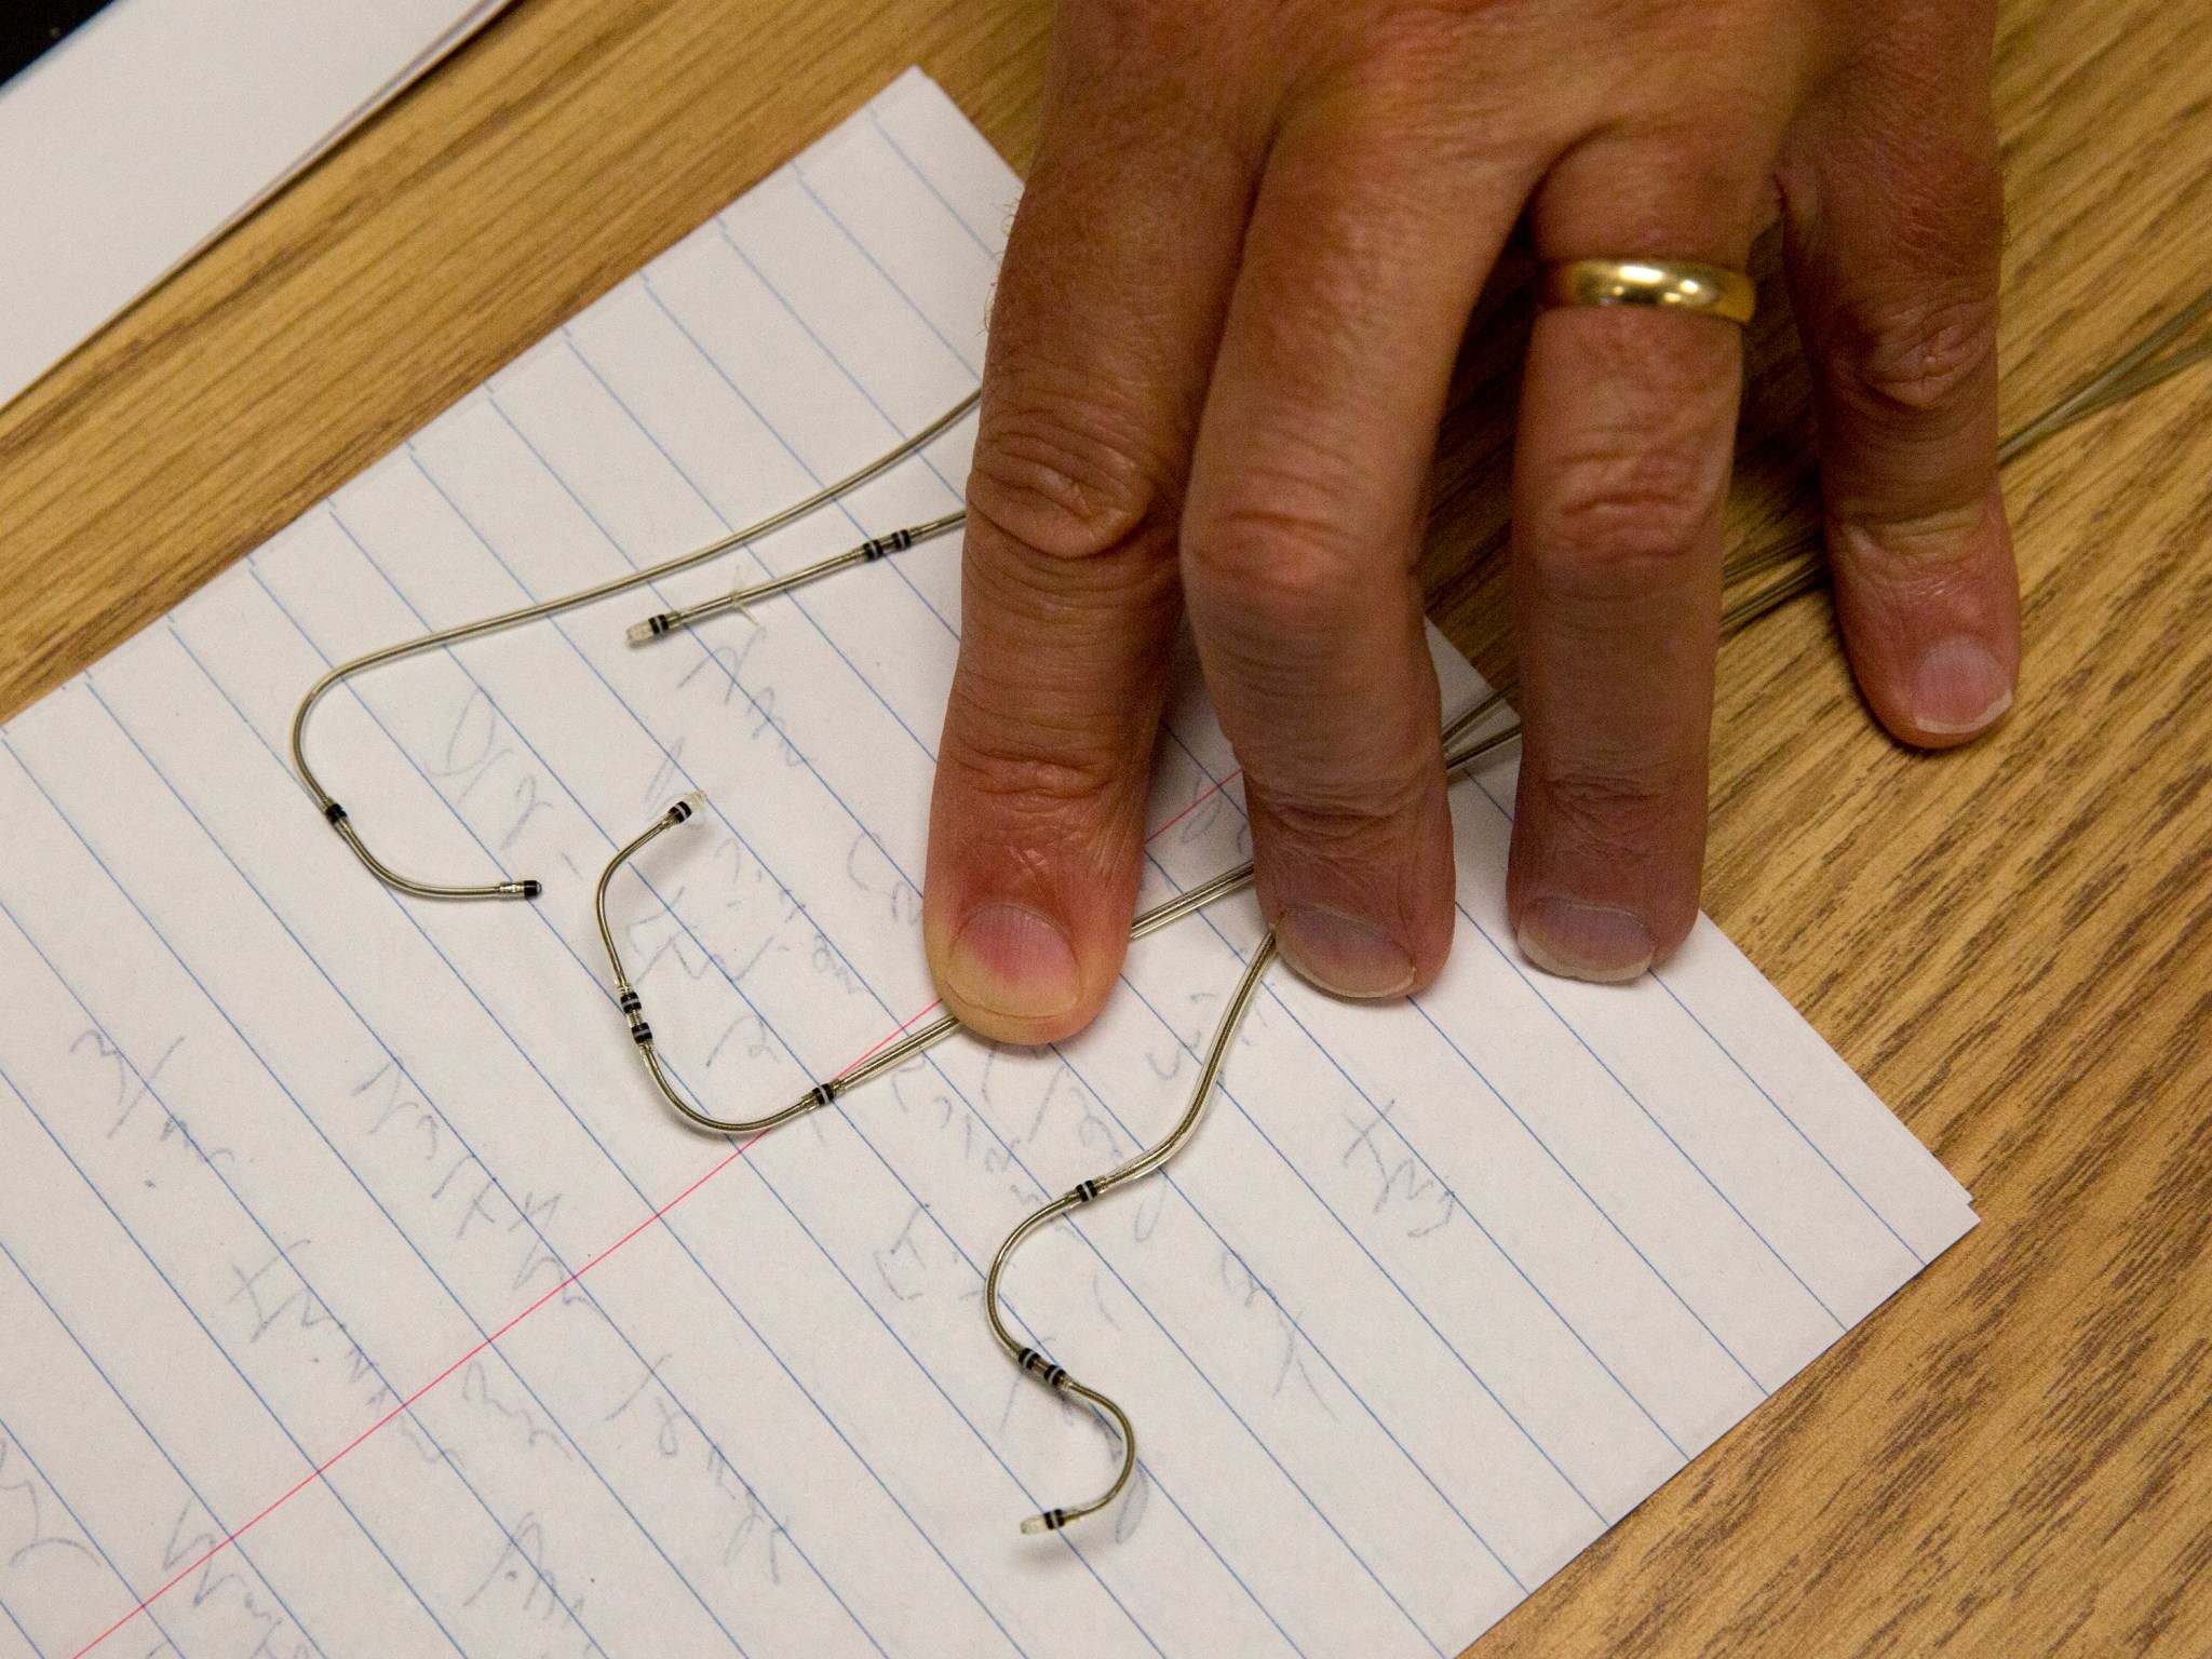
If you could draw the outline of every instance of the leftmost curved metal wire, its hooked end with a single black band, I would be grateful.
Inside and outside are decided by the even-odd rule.
[[[400,872],[392,869],[392,865],[387,865],[383,858],[378,858],[374,852],[369,852],[367,843],[361,838],[361,832],[354,830],[354,821],[345,814],[345,807],[338,805],[338,801],[330,794],[330,790],[323,787],[323,781],[314,774],[314,768],[307,765],[307,717],[314,714],[314,706],[321,703],[323,697],[330,695],[336,686],[372,668],[385,668],[389,664],[405,661],[407,657],[418,657],[425,650],[458,646],[465,639],[482,639],[489,633],[520,628],[526,622],[544,622],[546,617],[557,617],[564,611],[575,611],[577,606],[595,604],[597,599],[608,599],[617,593],[628,593],[630,588],[639,588],[648,582],[659,582],[666,575],[690,571],[695,564],[706,564],[708,560],[721,557],[730,549],[743,546],[745,542],[757,542],[763,535],[781,531],[783,526],[799,522],[807,513],[827,507],[841,495],[852,493],[867,480],[876,478],[889,467],[896,467],[907,456],[916,453],[931,440],[940,438],[949,427],[958,425],[958,420],[969,409],[975,407],[975,398],[978,398],[975,392],[967,394],[964,398],[960,398],[960,403],[940,414],[936,420],[916,431],[911,438],[902,440],[894,449],[883,451],[880,456],[876,456],[876,460],[867,462],[858,471],[847,473],[845,478],[838,478],[830,484],[823,484],[805,500],[792,502],[790,507],[770,513],[757,524],[745,524],[739,531],[730,531],[728,535],[708,542],[706,546],[692,549],[690,553],[684,553],[672,560],[661,560],[659,564],[648,564],[641,571],[628,571],[626,575],[617,575],[608,582],[597,582],[588,588],[577,588],[575,593],[564,593],[557,599],[540,599],[538,604],[518,606],[515,611],[500,611],[498,615],[478,617],[476,622],[465,622],[456,628],[438,628],[436,633],[427,633],[416,639],[403,639],[396,646],[385,646],[383,650],[372,650],[363,657],[354,657],[352,661],[338,664],[336,668],[325,672],[319,681],[314,681],[314,686],[307,688],[307,695],[299,699],[299,710],[292,714],[292,765],[299,768],[299,781],[307,785],[307,794],[314,799],[316,810],[330,821],[330,827],[338,832],[338,838],[354,849],[354,856],[361,860],[363,869],[367,869],[372,876],[376,876],[376,880],[385,883],[385,887],[392,887],[394,891],[411,894],[414,898],[538,898],[542,887],[540,883],[529,878],[476,883],[476,885],[447,885],[434,880],[418,880],[414,876],[403,876]],[[938,531],[947,526],[945,520],[931,520],[931,524],[936,524]],[[909,544],[911,540],[918,540],[914,531],[896,531],[894,535],[880,540],[889,542],[896,540],[898,535],[909,535]],[[796,577],[787,580],[787,586],[796,586]]]

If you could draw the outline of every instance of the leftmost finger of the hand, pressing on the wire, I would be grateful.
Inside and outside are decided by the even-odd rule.
[[[1062,115],[991,316],[922,898],[947,1006],[1006,1042],[1086,1024],[1128,949],[1177,515],[1248,190],[1203,117],[1117,119],[1095,95]]]

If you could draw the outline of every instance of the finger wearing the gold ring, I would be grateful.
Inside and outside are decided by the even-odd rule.
[[[1604,137],[1531,204],[1546,261],[1644,257],[1741,270],[1752,168]],[[1542,969],[1630,980],[1697,920],[1721,507],[1743,332],[1644,305],[1546,310],[1528,343],[1513,471],[1513,606],[1526,730],[1509,914]]]

